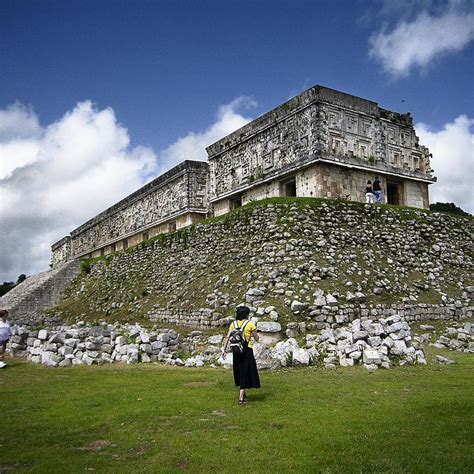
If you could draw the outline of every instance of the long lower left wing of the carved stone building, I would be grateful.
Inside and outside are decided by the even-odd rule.
[[[208,212],[208,164],[184,161],[52,246],[52,265],[136,245],[202,220]]]

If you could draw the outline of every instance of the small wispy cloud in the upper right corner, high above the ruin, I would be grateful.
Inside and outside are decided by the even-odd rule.
[[[426,68],[440,55],[461,51],[474,40],[474,13],[454,2],[441,15],[422,12],[413,21],[399,21],[369,39],[372,58],[394,77],[407,76],[413,67]]]

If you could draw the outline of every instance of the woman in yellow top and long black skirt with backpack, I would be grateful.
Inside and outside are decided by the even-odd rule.
[[[253,355],[252,338],[258,341],[257,327],[247,318],[250,309],[247,306],[237,308],[236,320],[229,326],[227,336],[224,338],[222,346],[222,356],[225,356],[227,345],[230,341],[230,347],[233,352],[233,370],[234,382],[236,387],[240,388],[239,404],[247,403],[248,388],[260,388],[260,378],[258,376],[257,363]],[[240,336],[241,342],[238,342]]]

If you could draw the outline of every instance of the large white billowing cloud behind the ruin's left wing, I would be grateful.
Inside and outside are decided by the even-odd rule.
[[[77,104],[41,126],[29,108],[0,110],[0,280],[48,268],[51,244],[150,179],[185,159],[205,160],[205,147],[250,119],[242,97],[219,108],[212,125],[167,149],[130,147],[111,108]]]

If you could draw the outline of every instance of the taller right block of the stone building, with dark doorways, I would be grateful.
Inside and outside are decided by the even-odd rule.
[[[435,179],[410,114],[315,86],[207,148],[216,215],[251,200],[365,200],[379,175],[385,202],[428,207]]]

